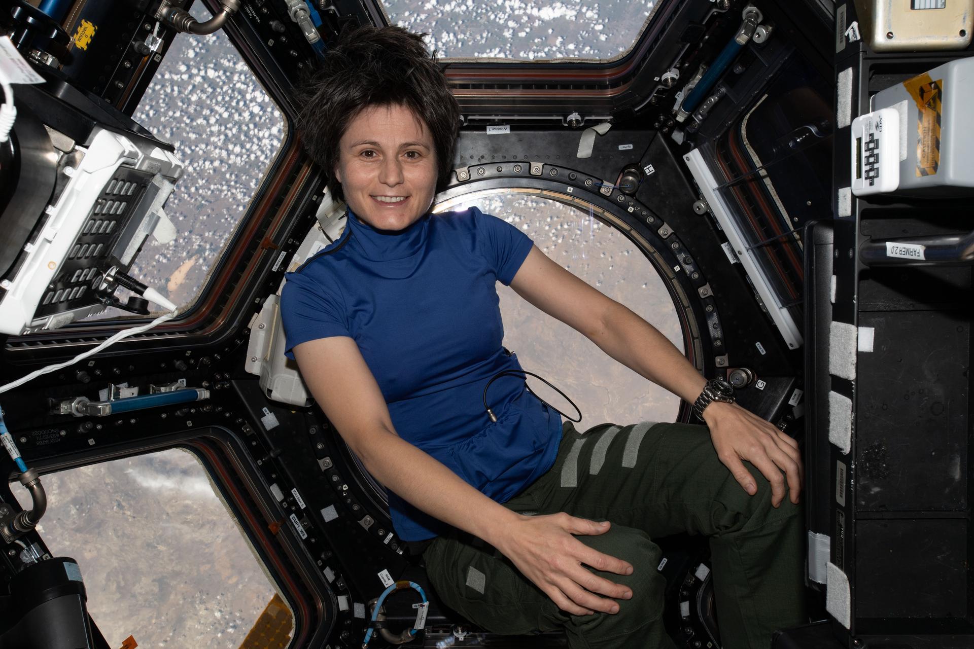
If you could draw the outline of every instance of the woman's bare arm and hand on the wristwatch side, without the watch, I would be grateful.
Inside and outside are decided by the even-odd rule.
[[[692,404],[703,390],[706,379],[656,327],[548,259],[537,247],[531,248],[510,287],[622,365],[684,401]],[[784,499],[785,478],[791,501],[798,502],[804,469],[794,439],[736,404],[713,402],[703,418],[714,449],[741,487],[752,495],[757,492],[741,461],[747,460],[770,482],[775,507]]]

